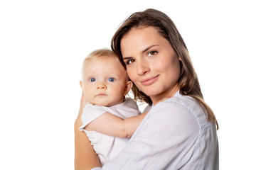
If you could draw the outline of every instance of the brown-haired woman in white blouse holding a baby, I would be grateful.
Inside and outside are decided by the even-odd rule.
[[[114,34],[112,50],[134,83],[135,99],[152,107],[129,144],[102,169],[218,169],[218,123],[171,19],[154,9],[133,13]],[[100,167],[78,124],[80,115],[75,166]]]

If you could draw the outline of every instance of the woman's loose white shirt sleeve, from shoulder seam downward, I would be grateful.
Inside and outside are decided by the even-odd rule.
[[[199,125],[188,108],[162,102],[151,108],[127,147],[102,169],[179,169],[193,154]]]

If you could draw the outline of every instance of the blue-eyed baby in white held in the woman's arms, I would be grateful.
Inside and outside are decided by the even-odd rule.
[[[85,58],[80,86],[87,101],[80,130],[103,165],[121,152],[146,113],[141,114],[137,103],[125,98],[132,81],[111,50],[95,50]]]

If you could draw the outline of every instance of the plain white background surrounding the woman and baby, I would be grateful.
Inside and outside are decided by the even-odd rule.
[[[220,125],[220,169],[256,169],[256,5],[0,1],[0,169],[73,169],[82,60],[146,8],[176,23]]]

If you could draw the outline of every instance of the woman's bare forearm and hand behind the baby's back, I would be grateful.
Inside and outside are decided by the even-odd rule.
[[[82,93],[78,118],[75,120],[75,170],[101,167],[100,160],[95,153],[85,132],[79,130],[82,125],[82,109],[85,107],[85,95]]]

